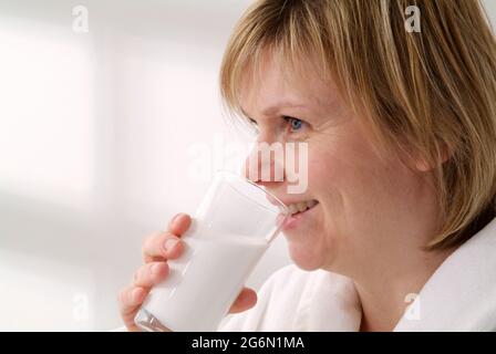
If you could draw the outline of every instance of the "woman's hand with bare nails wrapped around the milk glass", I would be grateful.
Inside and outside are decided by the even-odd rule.
[[[189,228],[192,218],[186,214],[175,216],[168,231],[149,236],[143,243],[144,263],[135,273],[131,285],[118,294],[121,316],[128,331],[141,331],[134,324],[134,316],[145,301],[152,287],[167,278],[167,260],[180,257],[184,244],[180,236]],[[237,313],[252,308],[257,303],[257,293],[244,288],[230,306],[229,313]]]

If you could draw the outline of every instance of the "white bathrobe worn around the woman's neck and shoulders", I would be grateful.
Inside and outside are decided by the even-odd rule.
[[[350,279],[289,266],[219,331],[358,331],[360,321]],[[394,331],[496,331],[496,219],[441,264]]]

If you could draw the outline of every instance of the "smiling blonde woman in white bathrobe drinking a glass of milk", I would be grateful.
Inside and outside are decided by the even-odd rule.
[[[495,38],[476,0],[411,2],[261,0],[238,23],[228,106],[258,142],[308,144],[303,194],[258,183],[317,205],[283,230],[294,266],[220,330],[496,330]],[[145,242],[128,330],[189,221]]]

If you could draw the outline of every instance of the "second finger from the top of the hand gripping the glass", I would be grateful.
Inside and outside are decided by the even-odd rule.
[[[179,257],[183,244],[172,232],[157,232],[149,236],[143,243],[143,260],[145,263],[164,261]]]

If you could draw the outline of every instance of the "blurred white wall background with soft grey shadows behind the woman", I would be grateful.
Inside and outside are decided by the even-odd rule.
[[[208,185],[192,146],[210,147],[208,171],[215,146],[246,139],[218,69],[249,2],[0,0],[0,331],[121,325],[143,238]],[[288,262],[281,237],[249,285]]]

